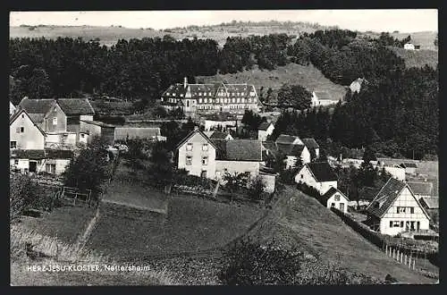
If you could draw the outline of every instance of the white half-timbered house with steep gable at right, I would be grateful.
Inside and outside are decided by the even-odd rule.
[[[408,183],[390,178],[367,206],[367,223],[375,231],[397,235],[429,229],[430,217]]]

